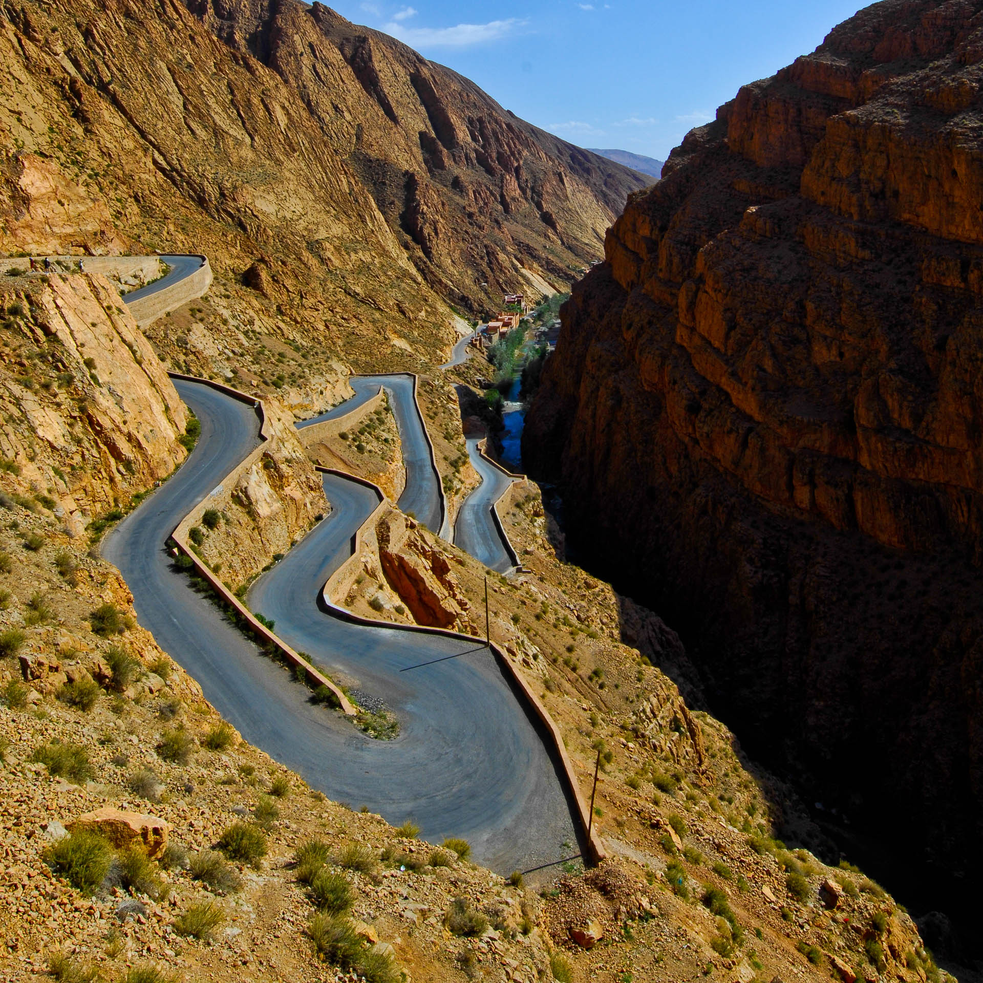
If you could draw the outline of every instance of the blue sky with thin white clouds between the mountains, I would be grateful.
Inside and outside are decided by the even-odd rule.
[[[857,0],[328,0],[580,146],[665,160],[738,87],[773,75]]]

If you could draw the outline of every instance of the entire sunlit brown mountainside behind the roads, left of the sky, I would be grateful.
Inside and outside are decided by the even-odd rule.
[[[0,249],[204,252],[349,361],[565,289],[644,185],[319,4],[4,9]]]

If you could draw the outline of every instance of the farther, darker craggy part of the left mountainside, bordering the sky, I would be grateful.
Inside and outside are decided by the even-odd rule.
[[[492,311],[510,284],[533,287],[527,265],[569,282],[600,253],[626,194],[644,187],[628,168],[530,126],[455,72],[319,3],[187,6],[300,94],[427,281],[472,312]]]

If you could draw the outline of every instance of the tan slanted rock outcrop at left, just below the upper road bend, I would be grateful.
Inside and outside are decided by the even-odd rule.
[[[184,460],[187,410],[102,276],[0,279],[0,458],[73,534]]]

